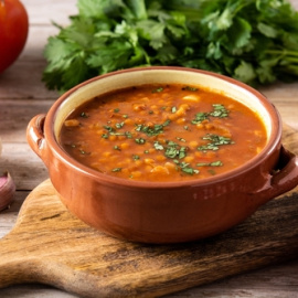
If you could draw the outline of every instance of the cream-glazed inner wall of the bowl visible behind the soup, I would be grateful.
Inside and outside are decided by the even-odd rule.
[[[54,125],[55,136],[56,138],[58,137],[63,121],[70,115],[70,113],[95,96],[115,89],[121,89],[143,84],[175,83],[207,88],[212,92],[224,94],[235,100],[243,103],[260,117],[266,126],[267,136],[270,136],[273,125],[272,118],[256,94],[253,94],[238,85],[232,84],[228,81],[224,81],[221,77],[212,76],[206,73],[171,68],[121,72],[117,75],[110,75],[104,78],[99,77],[99,79],[93,81],[89,84],[82,85],[82,87],[77,88],[75,92],[67,96],[58,113],[56,114]]]

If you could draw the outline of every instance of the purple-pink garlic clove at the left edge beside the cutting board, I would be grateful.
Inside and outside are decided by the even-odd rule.
[[[15,192],[15,184],[9,174],[9,172],[4,172],[2,177],[0,177],[0,211],[8,207]]]

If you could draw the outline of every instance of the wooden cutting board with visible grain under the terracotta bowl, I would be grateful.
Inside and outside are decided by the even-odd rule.
[[[298,132],[284,128],[298,153]],[[238,226],[188,244],[143,245],[88,227],[60,202],[50,180],[24,201],[0,241],[0,288],[43,283],[82,297],[157,297],[298,257],[298,188]]]

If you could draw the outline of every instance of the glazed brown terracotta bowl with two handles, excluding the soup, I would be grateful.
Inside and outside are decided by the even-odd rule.
[[[74,108],[115,88],[150,83],[206,86],[243,102],[263,118],[266,147],[235,170],[187,182],[106,175],[62,149],[57,136]],[[70,212],[109,235],[143,243],[189,242],[221,233],[296,187],[298,158],[284,149],[280,139],[278,113],[260,93],[219,74],[181,67],[131,68],[92,78],[62,95],[47,115],[35,116],[28,127],[28,141]]]

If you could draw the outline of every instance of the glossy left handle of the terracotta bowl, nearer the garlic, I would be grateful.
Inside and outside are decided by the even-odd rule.
[[[45,116],[45,114],[39,114],[30,120],[26,128],[26,140],[32,150],[47,164],[43,131]]]

